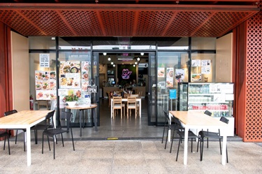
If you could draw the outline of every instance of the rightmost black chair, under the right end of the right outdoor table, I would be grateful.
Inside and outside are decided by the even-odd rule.
[[[220,121],[224,122],[226,124],[228,124],[228,122],[229,122],[229,120],[226,119],[226,117],[221,117]],[[201,136],[201,143],[202,143],[201,161],[203,160],[203,147],[204,147],[204,139],[205,138],[207,138],[207,139],[208,138],[219,139],[220,154],[222,154],[221,139],[223,139],[223,137],[220,136],[220,130],[218,130],[218,132],[199,131],[198,135]],[[208,142],[208,140],[207,140],[207,142]],[[226,147],[226,162],[228,163],[228,149],[227,149],[227,147]]]

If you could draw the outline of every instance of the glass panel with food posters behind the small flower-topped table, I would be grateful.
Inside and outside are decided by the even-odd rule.
[[[90,52],[59,52],[59,78],[57,85],[62,91],[59,96],[59,108],[66,106],[64,96],[75,94],[78,96],[78,104],[87,104],[92,101],[92,94],[87,93],[87,85],[92,84],[93,72]],[[92,126],[92,110],[85,110],[82,126]],[[73,113],[72,126],[79,126],[79,110],[71,110]]]

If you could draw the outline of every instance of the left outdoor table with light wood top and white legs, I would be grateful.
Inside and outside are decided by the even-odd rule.
[[[30,128],[45,119],[51,110],[23,110],[0,118],[0,129],[27,129],[27,166],[31,165]]]

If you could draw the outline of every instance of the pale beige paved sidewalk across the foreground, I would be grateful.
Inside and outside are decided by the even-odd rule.
[[[261,143],[228,141],[226,166],[221,165],[219,143],[210,142],[205,146],[203,161],[199,152],[188,153],[188,165],[183,165],[184,143],[180,146],[178,161],[175,161],[177,143],[169,153],[170,143],[164,150],[159,140],[78,140],[73,151],[71,141],[61,141],[56,146],[56,159],[53,159],[52,145],[48,150],[45,142],[44,154],[41,142],[31,142],[32,164],[27,166],[27,154],[22,141],[16,145],[10,142],[11,154],[3,150],[0,142],[0,173],[262,173]],[[191,145],[191,143],[189,143]],[[189,146],[190,147],[190,146]]]

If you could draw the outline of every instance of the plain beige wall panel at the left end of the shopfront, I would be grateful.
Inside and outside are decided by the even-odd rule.
[[[13,108],[29,110],[29,41],[11,32],[13,71]]]

